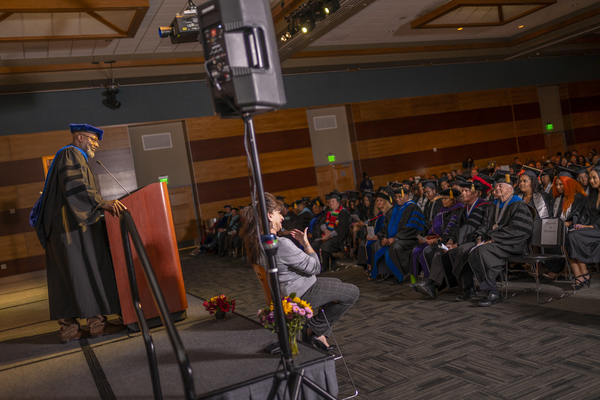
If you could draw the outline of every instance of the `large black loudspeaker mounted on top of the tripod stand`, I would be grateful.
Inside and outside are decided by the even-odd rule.
[[[197,7],[215,114],[257,115],[285,105],[267,0],[211,0]]]

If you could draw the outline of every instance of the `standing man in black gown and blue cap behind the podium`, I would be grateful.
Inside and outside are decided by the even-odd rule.
[[[77,318],[87,318],[92,336],[122,329],[103,315],[120,312],[120,305],[100,217],[103,210],[118,216],[126,208],[100,196],[88,165],[104,131],[84,124],[70,127],[73,143],[56,153],[39,213],[34,215],[34,209],[30,221],[46,249],[50,319],[58,320],[62,342],[85,334]]]

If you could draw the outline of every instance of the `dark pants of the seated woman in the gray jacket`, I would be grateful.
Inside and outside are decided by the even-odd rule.
[[[360,291],[356,286],[338,278],[317,278],[317,282],[300,296],[313,309],[314,316],[308,320],[308,326],[317,336],[329,336],[327,321],[333,326],[358,300],[359,295]]]

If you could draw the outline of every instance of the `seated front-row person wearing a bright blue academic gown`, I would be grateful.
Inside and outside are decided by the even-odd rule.
[[[402,282],[410,271],[410,253],[419,243],[417,236],[425,231],[425,217],[408,195],[402,186],[394,189],[396,204],[387,213],[371,250],[372,278],[381,274],[381,281],[395,278]]]

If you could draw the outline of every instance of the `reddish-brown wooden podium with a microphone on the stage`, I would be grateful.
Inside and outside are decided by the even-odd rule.
[[[187,298],[183,285],[167,184],[164,182],[150,184],[120,201],[131,213],[172,318],[174,320],[185,318],[185,310],[188,307]],[[110,213],[105,213],[105,220],[117,288],[119,289],[123,324],[139,330],[131,291],[129,290],[120,221],[119,218],[113,217]],[[161,324],[160,318],[158,318],[159,312],[154,304],[152,292],[146,282],[133,243],[131,244],[131,251],[144,314],[150,327],[158,326]]]

